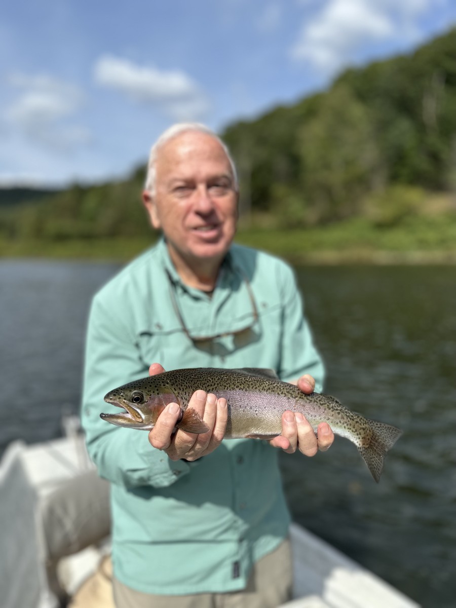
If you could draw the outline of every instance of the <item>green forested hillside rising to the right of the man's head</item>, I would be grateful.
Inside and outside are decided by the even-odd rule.
[[[292,226],[359,214],[394,222],[426,204],[426,191],[456,186],[456,30],[224,137],[244,207]]]

